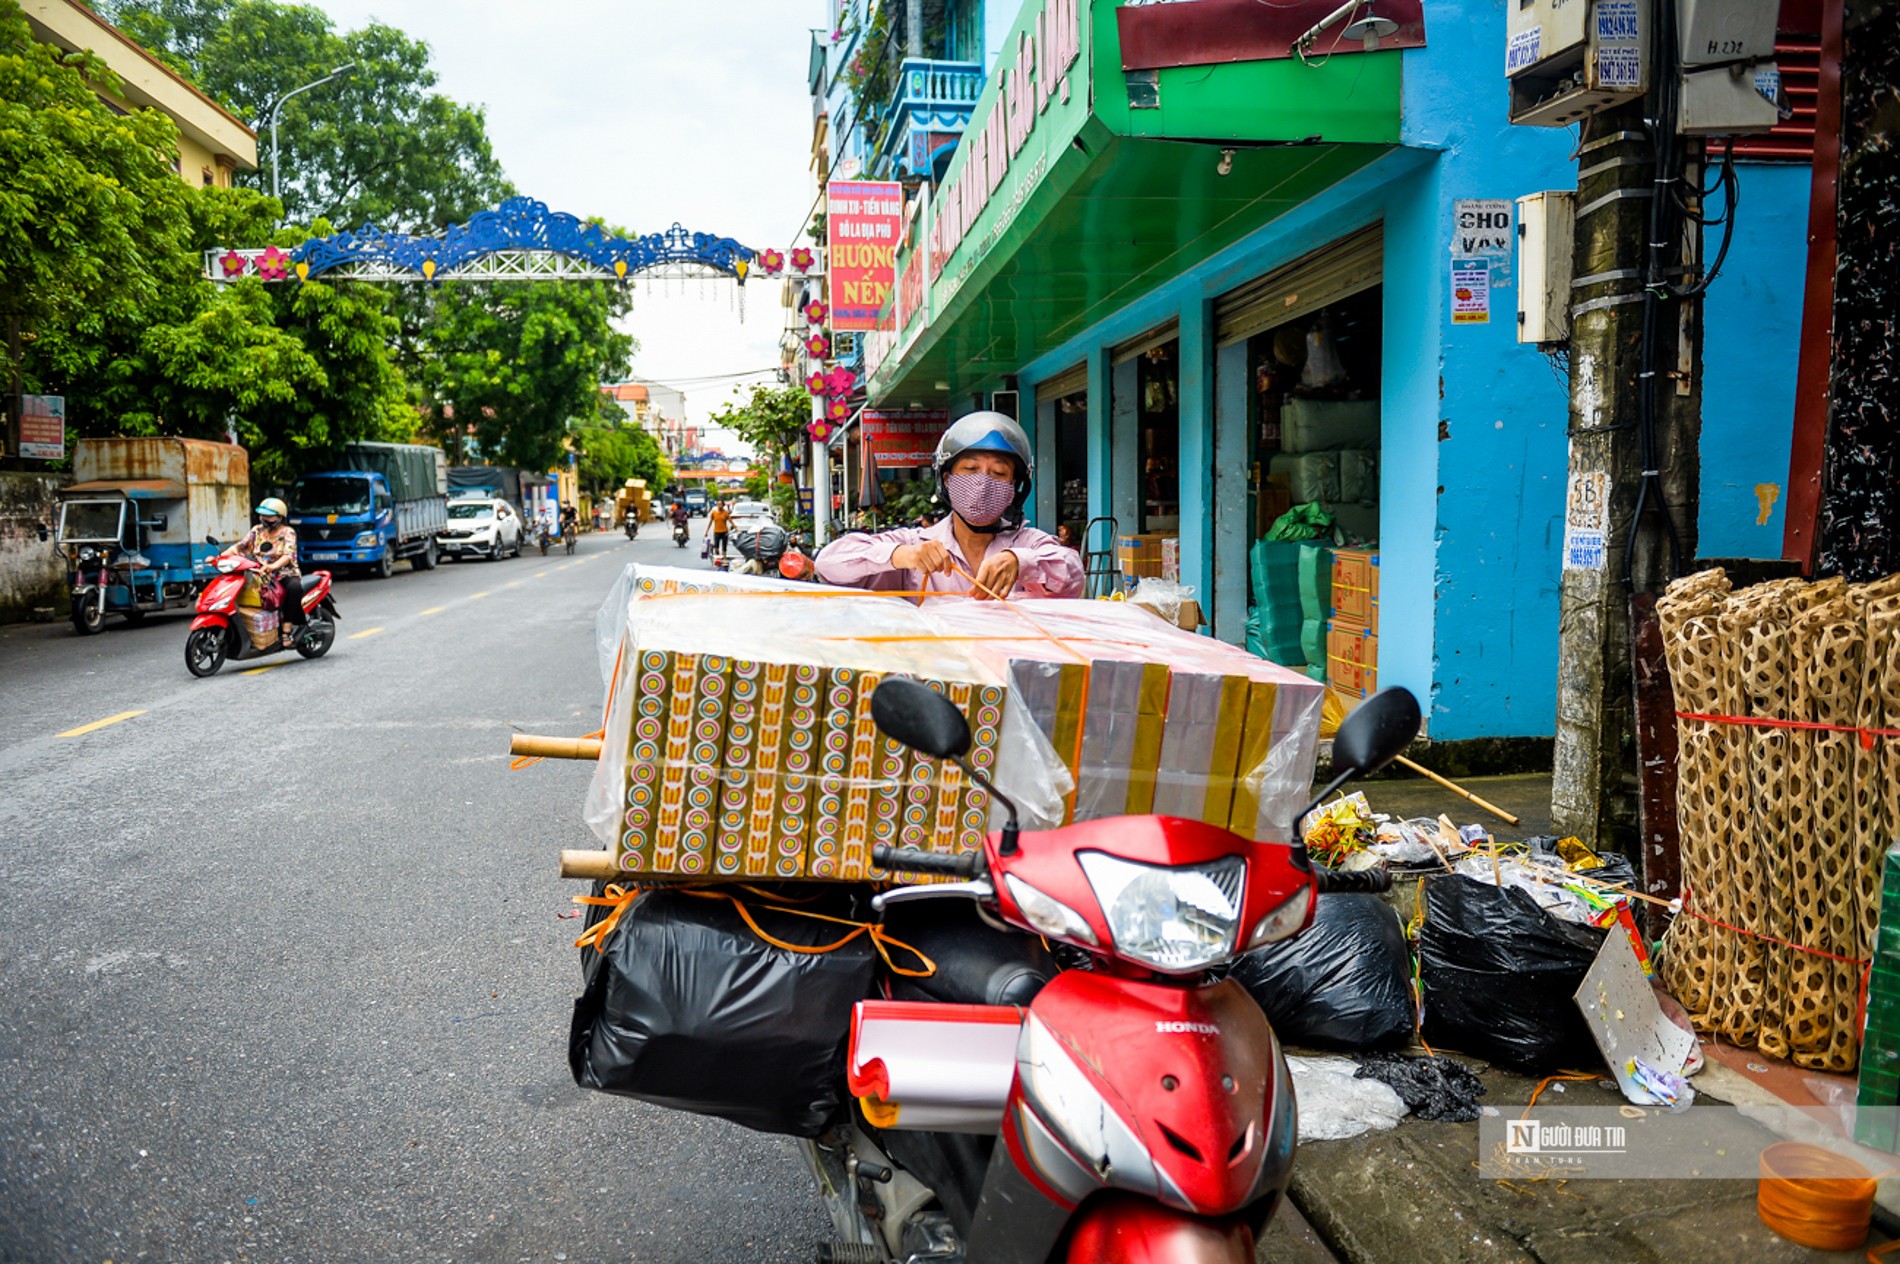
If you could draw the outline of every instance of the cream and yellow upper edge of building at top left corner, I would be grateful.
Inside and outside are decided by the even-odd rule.
[[[256,171],[256,133],[112,23],[76,0],[23,0],[21,10],[42,44],[89,51],[110,67],[120,91],[99,91],[106,106],[120,114],[158,110],[177,124],[179,156],[171,169],[186,184],[230,188],[234,171]]]

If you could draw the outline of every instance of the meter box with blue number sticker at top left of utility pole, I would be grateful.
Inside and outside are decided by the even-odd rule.
[[[1649,89],[1649,0],[1507,0],[1510,122],[1568,127]]]

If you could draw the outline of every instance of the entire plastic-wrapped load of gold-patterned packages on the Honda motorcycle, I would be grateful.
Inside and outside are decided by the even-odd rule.
[[[629,568],[589,823],[629,874],[882,876],[880,842],[980,846],[990,796],[878,732],[908,675],[969,718],[1028,827],[1163,812],[1284,838],[1320,686],[1112,603],[901,599]]]

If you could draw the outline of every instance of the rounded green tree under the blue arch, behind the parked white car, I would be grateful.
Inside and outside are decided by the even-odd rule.
[[[547,469],[574,430],[602,416],[600,382],[625,376],[633,338],[614,327],[627,293],[606,281],[450,281],[433,297],[416,376],[431,428],[473,433],[504,466]]]

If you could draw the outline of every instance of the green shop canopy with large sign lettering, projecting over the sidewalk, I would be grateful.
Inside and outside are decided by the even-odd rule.
[[[971,133],[998,108],[1024,36],[1051,4],[1026,4],[1016,17]],[[925,281],[923,304],[872,367],[872,401],[942,405],[1015,373],[1398,144],[1398,51],[1159,70],[1157,106],[1132,108],[1115,6],[1075,4],[1068,101],[1049,101],[939,278]],[[1226,143],[1235,154],[1220,175]],[[973,152],[960,146],[940,190],[958,184]],[[923,266],[929,220],[935,211],[899,255],[899,274]]]

